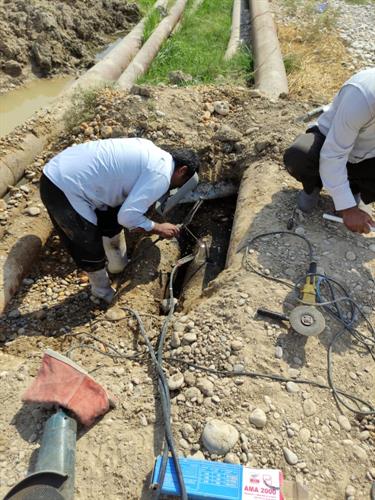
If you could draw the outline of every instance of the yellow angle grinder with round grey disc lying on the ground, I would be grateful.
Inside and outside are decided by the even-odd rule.
[[[306,276],[305,284],[302,288],[301,302],[303,305],[295,307],[289,316],[268,309],[258,309],[260,316],[267,316],[272,319],[289,321],[294,331],[307,337],[316,337],[325,329],[326,322],[323,314],[316,306],[316,262],[311,262]]]

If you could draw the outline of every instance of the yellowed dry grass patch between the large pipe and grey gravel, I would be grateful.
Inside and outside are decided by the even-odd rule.
[[[352,60],[343,41],[334,30],[327,31],[311,33],[306,27],[278,26],[293,97],[328,101],[353,73],[345,67]]]

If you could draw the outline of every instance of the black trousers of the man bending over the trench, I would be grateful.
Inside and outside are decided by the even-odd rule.
[[[44,174],[40,179],[40,197],[62,244],[77,266],[88,272],[103,269],[106,257],[102,237],[112,238],[123,229],[117,222],[120,207],[96,210],[96,226],[76,212],[63,191]]]

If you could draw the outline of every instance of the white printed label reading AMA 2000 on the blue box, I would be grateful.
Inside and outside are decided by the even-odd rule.
[[[283,474],[275,469],[250,469],[242,472],[242,500],[283,500]]]

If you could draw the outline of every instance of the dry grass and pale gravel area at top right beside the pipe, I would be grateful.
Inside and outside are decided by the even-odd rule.
[[[375,64],[372,0],[271,0],[290,92],[329,102],[355,71]]]

